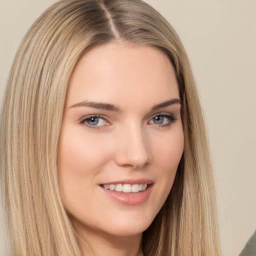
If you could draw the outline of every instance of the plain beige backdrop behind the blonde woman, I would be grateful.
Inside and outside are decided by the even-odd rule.
[[[0,0],[0,97],[22,36],[53,2]],[[187,49],[208,127],[223,255],[238,255],[256,228],[256,1],[147,2]]]

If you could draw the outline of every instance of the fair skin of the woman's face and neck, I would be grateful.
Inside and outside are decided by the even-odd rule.
[[[174,103],[159,106],[171,99]],[[90,49],[76,64],[58,162],[62,201],[84,255],[90,249],[101,256],[143,255],[142,232],[169,194],[183,152],[178,99],[173,66],[156,48],[111,42]],[[98,114],[97,123],[88,117]],[[113,200],[100,186],[139,178],[152,180],[152,187],[135,205]]]

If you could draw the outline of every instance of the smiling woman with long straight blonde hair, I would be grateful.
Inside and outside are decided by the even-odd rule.
[[[185,50],[158,12],[53,4],[20,44],[2,107],[12,254],[220,255],[207,148]]]

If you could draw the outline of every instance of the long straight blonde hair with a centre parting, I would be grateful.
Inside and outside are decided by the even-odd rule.
[[[58,189],[57,148],[69,78],[90,47],[113,40],[168,55],[179,84],[184,152],[172,190],[143,233],[146,256],[220,255],[201,108],[182,43],[141,0],[60,0],[30,27],[1,110],[1,182],[12,255],[81,255]]]

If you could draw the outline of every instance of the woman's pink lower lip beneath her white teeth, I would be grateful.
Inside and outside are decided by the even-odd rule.
[[[111,199],[127,205],[135,205],[144,202],[149,197],[152,191],[153,184],[147,185],[144,191],[140,191],[137,193],[124,193],[124,192],[117,192],[112,191],[109,189],[105,189],[104,187],[100,186],[102,191],[109,196]]]

